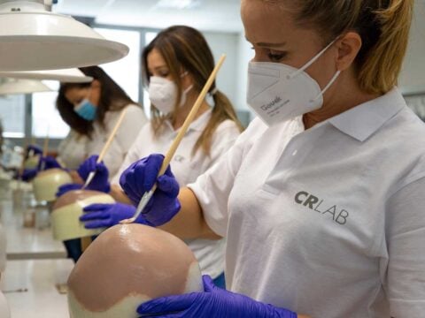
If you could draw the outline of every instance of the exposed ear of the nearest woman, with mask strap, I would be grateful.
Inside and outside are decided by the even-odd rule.
[[[359,55],[362,41],[361,37],[356,32],[348,32],[336,41],[337,59],[336,68],[338,71],[349,69]]]

